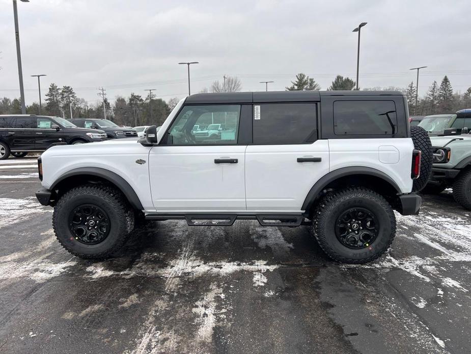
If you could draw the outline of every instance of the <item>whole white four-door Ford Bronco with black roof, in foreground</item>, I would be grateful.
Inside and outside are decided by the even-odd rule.
[[[427,133],[409,128],[395,91],[195,94],[157,132],[54,146],[38,159],[36,196],[73,255],[112,255],[141,220],[188,225],[312,225],[331,258],[365,263],[391,245],[393,210],[417,214]],[[195,125],[220,124],[217,139]]]

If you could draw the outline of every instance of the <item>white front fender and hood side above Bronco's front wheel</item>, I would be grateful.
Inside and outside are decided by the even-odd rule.
[[[147,161],[149,150],[150,147],[137,143],[135,138],[53,146],[41,156],[42,185],[49,188],[63,174],[75,168],[99,167],[120,175],[134,189],[144,209],[152,211],[149,165],[135,162],[138,159]]]

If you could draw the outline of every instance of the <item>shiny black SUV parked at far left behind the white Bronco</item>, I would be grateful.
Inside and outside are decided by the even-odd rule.
[[[0,160],[24,157],[44,151],[54,144],[82,144],[106,140],[106,134],[81,129],[60,117],[36,115],[0,115]]]

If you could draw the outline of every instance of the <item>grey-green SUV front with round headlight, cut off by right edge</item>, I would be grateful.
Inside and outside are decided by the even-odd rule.
[[[455,201],[471,210],[471,136],[451,135],[431,137],[434,163],[425,194],[438,194],[452,188]]]

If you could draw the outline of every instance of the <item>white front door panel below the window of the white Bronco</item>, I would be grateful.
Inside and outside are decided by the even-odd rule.
[[[155,146],[149,154],[159,212],[245,210],[244,145]],[[238,163],[214,163],[215,159]]]

